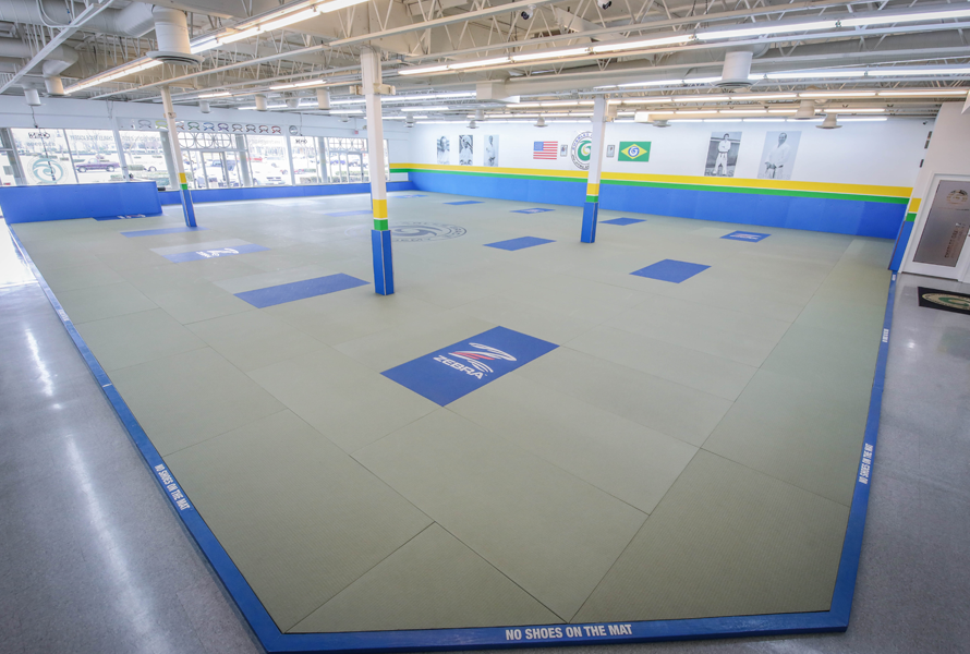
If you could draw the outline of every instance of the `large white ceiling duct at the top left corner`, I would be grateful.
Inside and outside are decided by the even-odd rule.
[[[0,21],[62,27],[84,10],[84,4],[76,2],[3,0],[0,2]],[[151,5],[132,2],[124,9],[102,10],[84,24],[84,29],[114,36],[144,36],[154,25]]]

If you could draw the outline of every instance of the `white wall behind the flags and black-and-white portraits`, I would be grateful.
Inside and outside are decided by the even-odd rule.
[[[705,122],[674,123],[666,129],[640,123],[607,125],[606,143],[648,141],[648,162],[604,158],[605,172],[646,174],[704,174],[712,133],[742,132],[736,178],[756,178],[767,132],[801,132],[791,179],[803,182],[912,186],[923,156],[926,134],[933,121],[889,119],[885,122],[845,123],[840,130],[817,130],[817,123]],[[477,130],[464,124],[419,124],[413,128],[413,164],[436,164],[438,136],[451,140],[451,165],[458,165],[458,135],[474,135],[474,165],[484,165],[484,136],[499,135],[499,167],[546,170],[577,170],[567,156],[555,161],[532,158],[533,142],[571,143],[589,123],[550,124],[539,129],[531,123],[480,122]],[[619,149],[619,148],[617,148]],[[965,153],[965,156],[966,153]],[[967,156],[970,160],[970,156]]]

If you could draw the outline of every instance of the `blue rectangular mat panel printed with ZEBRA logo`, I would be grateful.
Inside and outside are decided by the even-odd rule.
[[[444,407],[558,347],[494,327],[380,374]]]

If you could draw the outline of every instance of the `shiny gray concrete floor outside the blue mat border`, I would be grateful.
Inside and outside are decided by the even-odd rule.
[[[44,293],[11,259],[4,241],[0,652],[258,652]],[[609,652],[967,651],[970,318],[919,308],[918,283],[967,292],[899,279],[848,633]]]

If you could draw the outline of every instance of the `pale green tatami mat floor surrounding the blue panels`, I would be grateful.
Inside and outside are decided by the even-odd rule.
[[[589,245],[579,208],[456,199],[390,196],[466,230],[396,242],[390,296],[369,217],[328,215],[366,195],[14,231],[282,631],[827,610],[892,242],[638,216]],[[520,237],[554,242],[484,246]],[[268,250],[162,256],[240,243]],[[710,267],[630,275],[664,259]],[[235,295],[336,274],[368,283]],[[495,327],[558,348],[445,407],[381,375]]]

